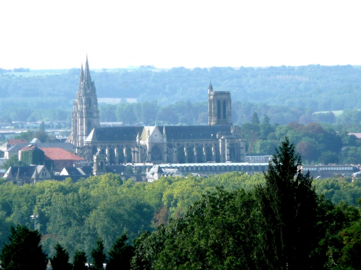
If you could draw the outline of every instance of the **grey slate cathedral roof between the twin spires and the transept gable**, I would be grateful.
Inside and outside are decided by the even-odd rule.
[[[138,133],[143,131],[142,126],[113,126],[113,127],[96,127],[94,128],[86,142],[119,142],[119,141],[136,141]]]

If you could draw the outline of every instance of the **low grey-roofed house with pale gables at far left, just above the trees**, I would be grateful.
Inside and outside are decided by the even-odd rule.
[[[51,178],[51,173],[45,165],[11,166],[4,176],[7,181],[16,185],[36,184]]]

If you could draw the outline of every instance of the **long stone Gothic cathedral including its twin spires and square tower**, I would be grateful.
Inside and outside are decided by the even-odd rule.
[[[240,128],[232,125],[229,91],[208,87],[208,125],[101,127],[88,56],[80,71],[79,88],[68,139],[77,154],[97,164],[245,162]]]

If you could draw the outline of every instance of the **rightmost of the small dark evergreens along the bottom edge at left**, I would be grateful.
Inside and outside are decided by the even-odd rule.
[[[118,237],[113,244],[112,250],[109,251],[107,270],[130,270],[131,261],[134,256],[134,247],[126,243],[128,237],[127,233]]]

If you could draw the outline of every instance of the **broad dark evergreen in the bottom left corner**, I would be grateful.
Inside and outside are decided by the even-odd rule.
[[[25,226],[11,227],[9,244],[4,244],[0,254],[4,270],[45,270],[47,258],[40,244],[41,234]]]

